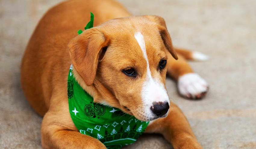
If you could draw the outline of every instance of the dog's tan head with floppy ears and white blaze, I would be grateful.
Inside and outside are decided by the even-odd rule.
[[[85,30],[68,47],[73,67],[86,85],[109,97],[100,103],[144,121],[167,115],[165,52],[177,56],[163,18],[109,20]]]

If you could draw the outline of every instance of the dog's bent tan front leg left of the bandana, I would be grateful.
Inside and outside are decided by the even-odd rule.
[[[66,118],[66,119],[64,119]],[[98,139],[89,135],[81,134],[74,127],[69,127],[73,123],[68,116],[53,113],[46,113],[41,128],[42,146],[47,149],[106,149]],[[64,120],[64,121],[63,121]]]

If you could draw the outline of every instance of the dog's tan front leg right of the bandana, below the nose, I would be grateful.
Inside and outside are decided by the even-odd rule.
[[[152,121],[146,133],[161,133],[174,149],[202,149],[180,108],[170,103],[167,117]]]

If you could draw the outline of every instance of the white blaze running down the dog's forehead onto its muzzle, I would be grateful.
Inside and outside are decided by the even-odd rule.
[[[145,46],[145,41],[144,37],[140,32],[136,32],[134,34],[135,39],[137,40],[142,53],[143,57],[145,58],[147,62],[147,75],[146,75],[146,80],[143,83],[142,86],[142,100],[145,104],[145,113],[149,116],[150,112],[150,107],[153,105],[153,102],[170,102],[166,89],[164,88],[164,84],[159,81],[159,79],[153,79],[150,68],[149,68],[149,62],[148,62],[148,56],[146,52],[146,46]]]

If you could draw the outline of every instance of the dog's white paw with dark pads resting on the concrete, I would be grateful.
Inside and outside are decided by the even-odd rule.
[[[179,92],[187,98],[200,99],[206,94],[208,88],[208,83],[197,73],[187,73],[178,79]]]

